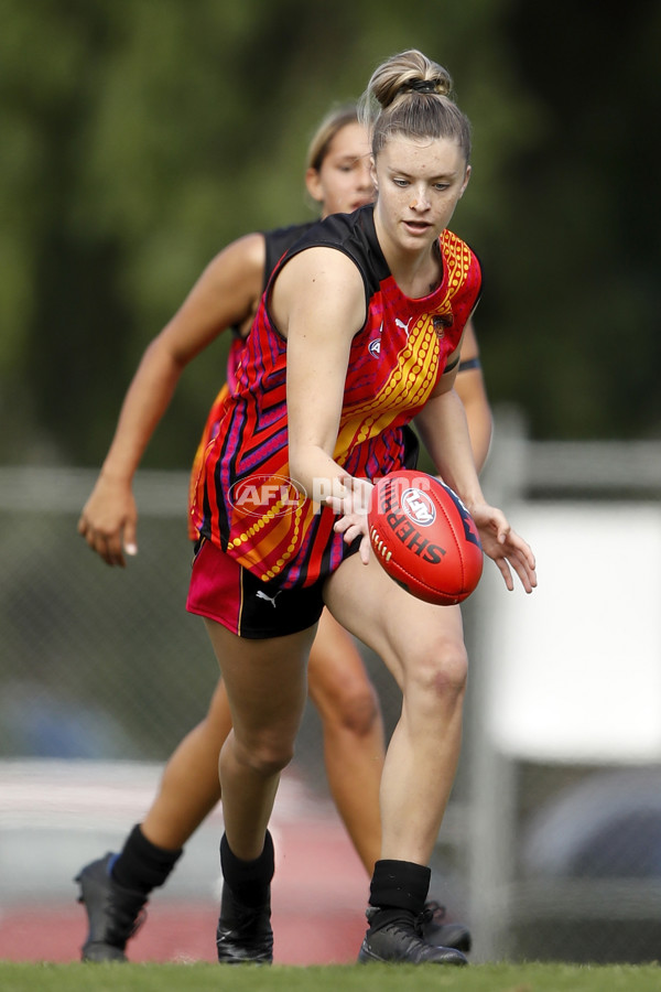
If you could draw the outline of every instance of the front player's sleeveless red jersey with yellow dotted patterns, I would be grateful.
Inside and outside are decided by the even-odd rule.
[[[403,428],[459,344],[479,296],[479,263],[444,231],[441,285],[427,296],[405,296],[380,250],[371,206],[315,225],[282,263],[313,245],[345,251],[364,277],[368,316],[351,344],[334,459],[354,476],[378,478],[404,464]],[[262,581],[293,587],[325,578],[349,551],[333,530],[333,511],[312,498],[318,494],[302,494],[290,479],[286,342],[266,299],[206,449],[194,511],[203,536],[241,565]]]

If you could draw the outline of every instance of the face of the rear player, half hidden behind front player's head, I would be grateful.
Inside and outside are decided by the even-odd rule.
[[[375,186],[366,129],[357,121],[345,125],[333,138],[319,169],[308,169],[307,192],[322,205],[322,216],[350,214],[371,203]]]

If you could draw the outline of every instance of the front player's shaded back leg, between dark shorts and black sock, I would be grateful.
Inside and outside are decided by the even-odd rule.
[[[221,666],[234,730],[220,752],[227,842],[242,861],[262,853],[280,773],[293,755],[315,627],[266,640],[205,621]]]

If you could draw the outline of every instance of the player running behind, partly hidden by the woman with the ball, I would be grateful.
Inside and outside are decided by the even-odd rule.
[[[321,205],[322,216],[351,212],[371,201],[368,159],[367,132],[358,122],[356,107],[328,115],[311,142],[305,175],[307,191]],[[109,564],[123,565],[124,556],[137,550],[133,474],[184,366],[231,327],[228,384],[235,385],[237,365],[268,277],[285,248],[310,226],[256,233],[228,246],[147,349],[79,522],[80,533]],[[457,389],[467,411],[476,462],[481,465],[491,418],[470,326],[462,352]],[[192,474],[192,500],[204,452],[218,431],[227,395],[226,386],[209,413]],[[191,536],[197,537],[193,518]],[[322,718],[332,795],[371,874],[380,851],[378,795],[384,755],[380,709],[355,641],[327,611],[321,617],[311,651],[308,692]],[[78,875],[80,901],[89,918],[84,960],[126,960],[127,941],[144,916],[149,893],[165,882],[182,848],[220,798],[218,754],[230,727],[227,693],[219,680],[205,719],[170,758],[152,806],[142,823],[130,832],[120,854],[106,855]],[[427,939],[468,950],[467,929],[459,924],[443,924],[442,915],[437,904],[427,905]]]

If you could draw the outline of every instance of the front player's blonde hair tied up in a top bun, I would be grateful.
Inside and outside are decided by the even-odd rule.
[[[360,98],[359,119],[370,129],[375,158],[392,134],[404,134],[456,141],[470,161],[470,121],[454,101],[452,76],[418,48],[392,55],[375,69]]]

